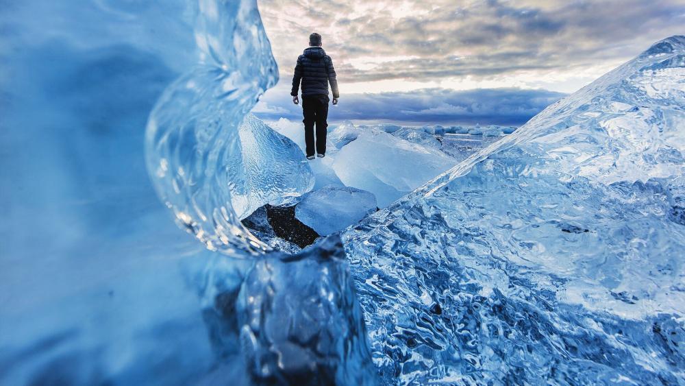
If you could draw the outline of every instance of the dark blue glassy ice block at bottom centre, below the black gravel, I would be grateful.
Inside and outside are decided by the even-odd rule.
[[[236,312],[258,383],[369,385],[375,367],[340,237],[300,254],[269,254],[245,278]]]

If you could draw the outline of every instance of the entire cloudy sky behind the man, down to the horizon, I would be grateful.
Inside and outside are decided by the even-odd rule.
[[[685,34],[685,0],[259,0],[280,80],[254,112],[301,119],[290,84],[312,32],[340,88],[329,121],[521,125]]]

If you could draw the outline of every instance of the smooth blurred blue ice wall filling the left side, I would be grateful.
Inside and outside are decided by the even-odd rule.
[[[194,27],[203,12],[227,32],[263,37],[255,1],[3,3],[1,385],[251,382],[227,291],[256,261],[210,252],[178,230],[145,165],[155,101],[206,54]],[[271,56],[250,60],[258,69]],[[209,133],[186,134],[193,143]],[[358,361],[371,365],[368,355]]]

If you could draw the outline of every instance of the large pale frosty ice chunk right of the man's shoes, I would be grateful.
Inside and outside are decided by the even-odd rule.
[[[338,151],[333,169],[345,185],[370,191],[384,207],[455,164],[439,150],[366,129]]]

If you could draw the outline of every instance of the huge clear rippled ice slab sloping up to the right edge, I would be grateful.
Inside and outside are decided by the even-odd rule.
[[[386,383],[684,383],[684,58],[662,40],[344,232]]]

